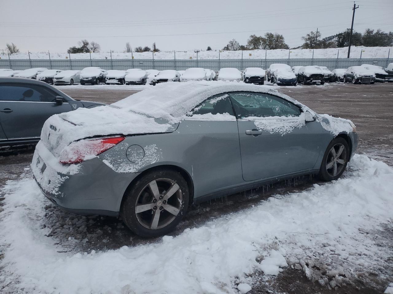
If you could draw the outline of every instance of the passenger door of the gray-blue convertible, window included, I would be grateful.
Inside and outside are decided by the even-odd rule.
[[[245,181],[312,169],[325,143],[319,122],[287,100],[265,93],[229,93],[237,115]]]

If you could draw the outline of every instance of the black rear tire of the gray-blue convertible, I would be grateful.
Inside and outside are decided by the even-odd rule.
[[[155,182],[158,187],[159,199],[157,199],[158,194],[156,193],[157,197],[154,197],[152,189],[149,189],[149,184],[153,182]],[[171,187],[174,187],[173,189],[178,187],[178,190],[169,196],[169,198],[167,198],[167,203],[165,203],[165,193],[169,191]],[[178,225],[180,220],[182,220],[188,208],[189,190],[187,182],[179,172],[158,169],[147,172],[138,179],[132,187],[128,189],[124,197],[125,199],[121,206],[120,213],[127,227],[135,234],[142,237],[158,237],[171,232],[176,225]],[[149,205],[149,207],[153,208],[137,213],[136,206],[138,203],[139,205]],[[175,212],[177,215],[167,211],[164,207],[168,209],[177,207]],[[154,227],[153,223],[157,212],[159,213],[156,229],[152,229],[152,227]]]

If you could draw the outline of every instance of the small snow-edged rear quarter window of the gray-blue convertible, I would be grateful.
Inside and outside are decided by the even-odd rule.
[[[189,113],[189,116],[194,116],[195,114],[230,114],[235,116],[233,113],[232,105],[229,100],[228,94],[219,94],[204,102],[200,103],[197,107]]]

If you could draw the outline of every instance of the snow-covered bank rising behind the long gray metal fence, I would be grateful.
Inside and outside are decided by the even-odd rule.
[[[389,49],[393,54],[393,47],[364,47],[364,46],[351,46],[351,58],[359,58],[362,53],[362,58],[387,58]],[[347,58],[348,47],[343,48],[327,48],[327,49],[275,49],[275,50],[245,50],[245,51],[224,51],[220,52],[220,59],[264,59],[266,58],[312,58],[312,52],[314,51],[314,58],[336,58],[337,53],[339,58]],[[251,54],[251,56],[250,56]],[[89,53],[77,53],[70,54],[71,59],[90,59]],[[0,56],[8,58],[7,54]],[[135,59],[152,59],[152,52],[143,53],[123,53],[123,52],[112,52],[112,59],[129,59],[134,56]],[[50,53],[51,59],[66,59],[68,53]],[[196,53],[194,51],[176,51],[176,59],[196,59]],[[392,55],[390,55],[390,58]],[[11,55],[11,59],[28,59],[29,54],[27,52],[14,53]],[[49,59],[48,52],[30,52],[31,59]],[[110,59],[109,52],[91,53],[92,59]],[[219,50],[211,51],[200,51],[198,52],[198,59],[218,59]],[[154,59],[174,59],[173,51],[160,51],[154,53]]]

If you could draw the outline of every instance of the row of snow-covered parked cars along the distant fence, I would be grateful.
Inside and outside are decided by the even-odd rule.
[[[330,71],[326,66],[308,65],[293,66],[287,64],[271,64],[267,73],[260,67],[248,67],[243,72],[236,68],[222,68],[216,74],[211,69],[193,67],[185,71],[156,69],[142,70],[105,70],[99,67],[85,67],[82,70],[46,69],[43,67],[13,71],[12,69],[0,69],[0,76],[15,76],[41,80],[52,85],[84,84],[121,84],[121,85],[145,85],[162,82],[187,82],[190,80],[223,80],[243,81],[263,85],[265,78],[268,82],[277,85],[296,85],[297,83],[314,84],[325,82],[352,82],[352,83],[375,83],[393,80],[393,63],[385,69],[377,65],[362,64],[351,66],[347,69],[334,69]]]

